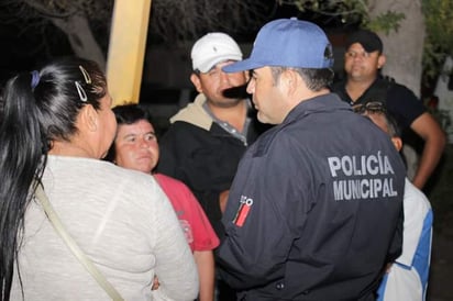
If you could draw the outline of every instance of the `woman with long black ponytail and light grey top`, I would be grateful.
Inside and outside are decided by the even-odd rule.
[[[125,300],[195,299],[198,276],[176,214],[151,176],[100,160],[115,118],[106,77],[62,58],[10,79],[0,110],[0,300],[109,300],[46,215]]]

